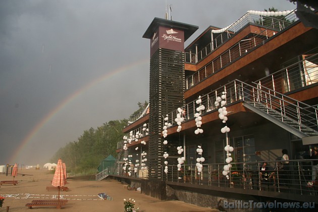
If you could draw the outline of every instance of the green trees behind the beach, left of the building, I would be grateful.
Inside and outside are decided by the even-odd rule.
[[[129,119],[140,114],[147,104],[147,101],[138,102],[139,109]],[[117,143],[123,139],[122,129],[127,126],[127,123],[127,119],[114,120],[102,124],[97,129],[91,127],[84,130],[76,141],[61,147],[51,158],[51,161],[57,162],[59,158],[62,158],[68,170],[73,173],[82,173],[88,170],[94,172],[105,157],[110,154],[116,157]]]

